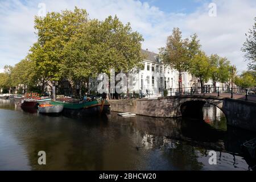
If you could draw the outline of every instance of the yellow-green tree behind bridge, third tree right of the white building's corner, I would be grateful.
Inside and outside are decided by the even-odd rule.
[[[228,82],[230,61],[226,57],[217,54],[210,55],[210,78],[212,78],[214,90],[216,91],[217,82]]]

